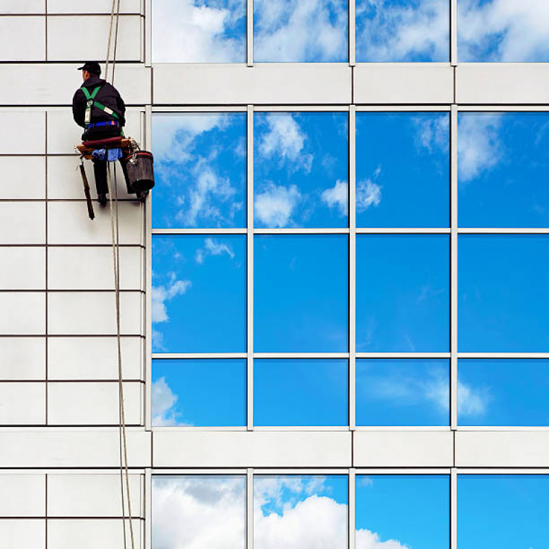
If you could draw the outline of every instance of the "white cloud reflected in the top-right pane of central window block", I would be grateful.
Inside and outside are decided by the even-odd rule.
[[[467,183],[491,170],[502,158],[499,114],[464,114],[458,124],[458,178]]]

